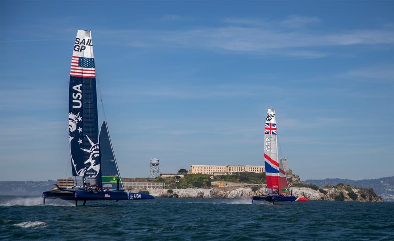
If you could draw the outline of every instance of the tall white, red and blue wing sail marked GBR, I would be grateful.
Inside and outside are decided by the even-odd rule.
[[[279,192],[278,142],[274,109],[268,109],[265,119],[264,165],[268,192]]]

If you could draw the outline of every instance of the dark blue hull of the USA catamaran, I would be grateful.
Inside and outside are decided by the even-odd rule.
[[[145,200],[154,199],[153,196],[145,193],[134,193],[125,191],[99,191],[91,192],[81,189],[55,189],[42,193],[42,198],[59,198],[64,200]]]

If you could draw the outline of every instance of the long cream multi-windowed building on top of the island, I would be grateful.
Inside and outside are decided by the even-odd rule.
[[[231,175],[238,172],[263,173],[265,172],[265,167],[249,165],[192,165],[188,174]]]

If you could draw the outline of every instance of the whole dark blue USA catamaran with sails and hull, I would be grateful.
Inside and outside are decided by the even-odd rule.
[[[96,72],[91,32],[78,30],[71,60],[69,88],[69,143],[73,188],[57,188],[42,194],[47,198],[74,200],[153,199],[123,188],[104,120],[99,133]]]

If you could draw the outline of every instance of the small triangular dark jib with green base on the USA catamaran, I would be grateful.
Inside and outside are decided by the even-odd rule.
[[[122,180],[116,164],[115,154],[109,137],[107,121],[104,121],[100,131],[100,155],[101,175],[103,188],[116,189],[119,180],[119,188],[123,189]]]

